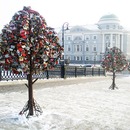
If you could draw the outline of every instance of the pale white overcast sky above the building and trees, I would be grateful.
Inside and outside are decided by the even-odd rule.
[[[124,27],[130,27],[129,0],[0,0],[0,29],[23,6],[31,6],[54,28],[64,22],[70,26],[96,24],[108,13],[113,13]]]

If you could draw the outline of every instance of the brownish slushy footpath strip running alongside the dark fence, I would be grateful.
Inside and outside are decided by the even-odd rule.
[[[76,77],[76,78],[53,78],[53,79],[38,79],[34,84],[34,89],[46,88],[46,87],[58,87],[86,82],[97,82],[99,80],[111,80],[110,76],[90,76],[90,77]],[[110,81],[111,82],[111,81]],[[3,92],[16,92],[27,91],[25,84],[28,84],[27,80],[14,80],[14,81],[0,81],[0,93]]]

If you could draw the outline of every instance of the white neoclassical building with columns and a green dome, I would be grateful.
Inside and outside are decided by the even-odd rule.
[[[59,32],[62,44],[62,32]],[[64,30],[64,59],[70,63],[100,63],[106,49],[116,46],[130,59],[130,31],[114,14],[102,16],[95,25],[73,26]]]

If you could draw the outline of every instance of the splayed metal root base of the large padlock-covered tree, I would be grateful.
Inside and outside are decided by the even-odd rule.
[[[30,103],[28,101],[25,104],[25,106],[23,107],[22,111],[19,113],[19,115],[25,114],[25,116],[28,118],[29,116],[39,116],[43,113],[41,107],[39,106],[39,104],[35,100],[33,102],[33,110],[34,110],[34,114],[31,115],[30,114]]]

